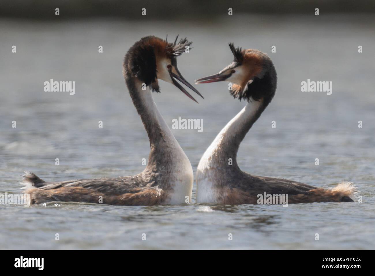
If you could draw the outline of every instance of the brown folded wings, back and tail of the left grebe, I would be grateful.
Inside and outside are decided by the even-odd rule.
[[[31,204],[72,201],[110,205],[159,205],[165,202],[169,194],[167,189],[160,189],[155,181],[144,179],[144,173],[63,182],[45,182],[28,171],[23,176],[25,184],[32,187],[25,191],[30,195]]]

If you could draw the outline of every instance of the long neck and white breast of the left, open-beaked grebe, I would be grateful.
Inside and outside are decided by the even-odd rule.
[[[130,87],[129,87],[130,86]],[[193,169],[171,129],[156,107],[150,89],[138,80],[128,83],[129,92],[150,140],[150,155],[143,171],[148,182],[169,191],[168,204],[191,202]]]

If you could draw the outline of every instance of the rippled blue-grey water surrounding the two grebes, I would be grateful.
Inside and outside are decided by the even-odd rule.
[[[275,63],[278,89],[241,144],[243,170],[317,187],[351,181],[363,200],[287,208],[199,205],[194,183],[193,203],[181,206],[0,205],[0,249],[374,249],[374,23],[374,17],[348,15],[0,20],[0,193],[22,192],[23,169],[47,181],[141,172],[149,143],[124,84],[122,60],[142,36],[168,33],[193,41],[190,53],[178,58],[191,83],[233,60],[228,42],[264,51]],[[51,78],[75,81],[75,95],[45,92]],[[308,79],[332,81],[332,95],[301,92]],[[203,119],[201,133],[172,130],[195,173],[205,149],[245,103],[229,95],[227,83],[196,86],[205,97],[196,104],[159,82],[154,100],[170,127],[178,116]]]

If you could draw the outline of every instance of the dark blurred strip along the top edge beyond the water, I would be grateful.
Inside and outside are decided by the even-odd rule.
[[[311,14],[320,8],[323,14],[365,13],[375,11],[374,1],[356,0],[181,0],[181,1],[124,1],[124,0],[3,0],[0,16],[30,18],[37,20],[56,20],[51,10],[60,8],[66,19],[115,17],[121,19],[141,19],[140,10],[147,8],[147,17],[156,20],[203,18],[211,20],[226,14],[232,8],[236,14]],[[59,18],[60,20],[61,18]]]

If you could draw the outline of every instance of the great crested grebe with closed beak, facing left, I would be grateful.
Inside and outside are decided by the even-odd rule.
[[[343,182],[322,189],[286,179],[255,176],[237,164],[237,151],[251,126],[275,95],[276,70],[271,59],[258,50],[229,47],[234,61],[219,73],[196,83],[229,81],[230,94],[248,104],[220,131],[199,161],[196,173],[198,203],[257,204],[258,196],[288,195],[288,203],[353,201],[354,185]],[[232,158],[233,164],[228,162]]]

